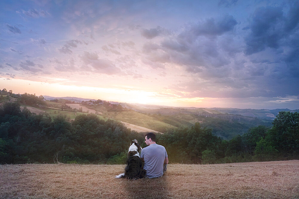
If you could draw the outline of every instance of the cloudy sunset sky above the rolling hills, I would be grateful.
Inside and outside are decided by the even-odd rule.
[[[0,0],[0,89],[299,109],[299,1]]]

